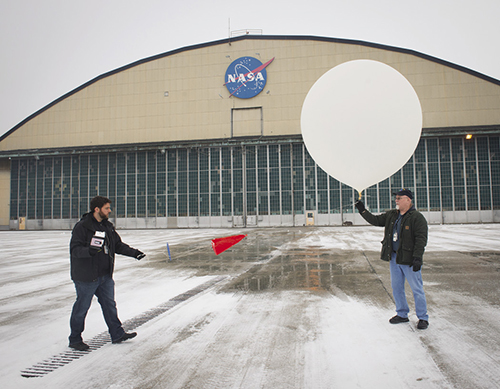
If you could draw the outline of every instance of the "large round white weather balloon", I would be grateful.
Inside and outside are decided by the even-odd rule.
[[[361,193],[410,159],[422,131],[422,109],[397,70],[355,60],[329,70],[311,87],[301,129],[316,163]]]

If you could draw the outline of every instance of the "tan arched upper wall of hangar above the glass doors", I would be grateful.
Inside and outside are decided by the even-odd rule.
[[[274,58],[265,67],[264,90],[252,98],[236,97],[224,85],[229,65],[242,57],[259,60],[264,67]],[[332,67],[355,59],[384,62],[410,81],[427,132],[464,127],[498,131],[499,80],[412,50],[369,42],[247,35],[170,51],[96,77],[3,135],[0,155],[298,136],[310,87]]]

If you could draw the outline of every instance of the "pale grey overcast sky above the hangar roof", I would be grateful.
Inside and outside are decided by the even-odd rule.
[[[96,76],[230,30],[380,43],[500,79],[499,15],[499,0],[3,0],[0,135]]]

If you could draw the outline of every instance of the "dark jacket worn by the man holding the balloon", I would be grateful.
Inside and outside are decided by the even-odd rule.
[[[361,216],[370,224],[385,227],[384,240],[380,258],[384,261],[391,260],[392,254],[392,231],[394,223],[399,216],[397,209],[390,210],[380,215],[373,215],[365,210]],[[399,248],[396,253],[396,263],[400,265],[411,265],[413,258],[422,259],[425,246],[427,245],[427,220],[424,215],[411,207],[401,220],[401,235],[399,237]]]

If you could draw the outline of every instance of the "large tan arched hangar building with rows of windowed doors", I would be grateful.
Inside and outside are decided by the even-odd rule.
[[[368,207],[406,187],[430,223],[499,222],[499,80],[369,42],[243,35],[100,75],[5,133],[0,228],[70,229],[97,194],[118,228],[363,224],[300,131],[311,86],[356,59],[398,70],[423,111],[414,155],[364,191]]]

